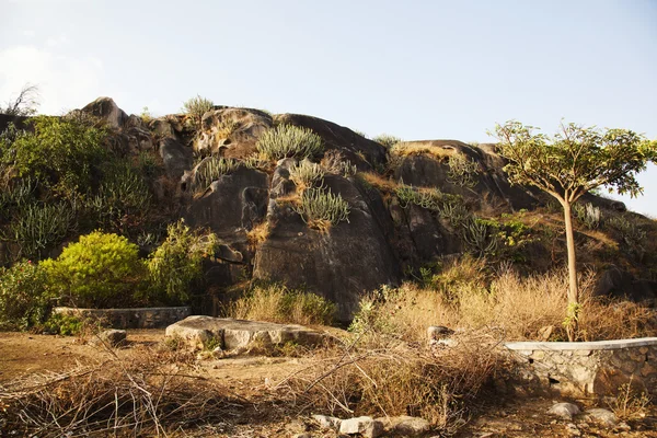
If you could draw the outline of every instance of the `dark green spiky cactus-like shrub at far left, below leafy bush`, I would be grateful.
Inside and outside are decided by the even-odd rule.
[[[19,245],[18,258],[41,258],[64,241],[74,223],[74,206],[68,201],[32,203],[16,210],[4,238]]]

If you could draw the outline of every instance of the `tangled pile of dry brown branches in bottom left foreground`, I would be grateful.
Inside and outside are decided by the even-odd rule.
[[[166,436],[220,422],[241,405],[226,390],[185,374],[161,354],[110,357],[62,373],[0,385],[0,429],[16,436]]]

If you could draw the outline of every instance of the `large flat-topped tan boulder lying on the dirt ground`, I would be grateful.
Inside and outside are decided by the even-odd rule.
[[[198,346],[218,342],[222,349],[270,347],[286,343],[316,345],[324,335],[296,324],[233,320],[232,318],[187,316],[166,327],[166,336],[180,337]]]

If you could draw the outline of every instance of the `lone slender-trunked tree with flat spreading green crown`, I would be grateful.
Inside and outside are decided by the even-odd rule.
[[[643,193],[636,174],[657,160],[657,141],[626,129],[599,129],[562,124],[554,136],[510,120],[497,125],[493,135],[499,153],[508,160],[505,171],[511,184],[540,188],[558,200],[564,209],[568,252],[568,337],[577,331],[579,289],[573,232],[572,206],[586,193],[604,186],[610,192]]]

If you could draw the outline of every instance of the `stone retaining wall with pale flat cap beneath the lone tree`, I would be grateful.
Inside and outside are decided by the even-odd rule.
[[[625,383],[657,394],[657,337],[588,343],[505,344],[520,364],[515,379],[531,390],[611,395]]]

